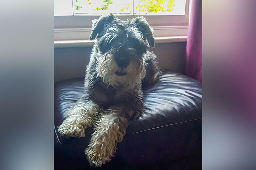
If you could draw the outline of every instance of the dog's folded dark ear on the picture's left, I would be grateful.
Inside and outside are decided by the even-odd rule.
[[[92,31],[90,40],[93,40],[97,37],[97,34],[102,32],[104,29],[104,25],[110,21],[113,21],[116,17],[113,14],[103,15],[99,19],[92,20]]]

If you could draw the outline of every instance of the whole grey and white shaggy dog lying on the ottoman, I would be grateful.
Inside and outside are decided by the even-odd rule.
[[[144,110],[141,84],[155,82],[161,74],[153,30],[140,16],[122,21],[114,15],[93,20],[91,40],[96,39],[86,69],[84,94],[66,112],[60,135],[83,138],[94,125],[85,154],[91,166],[110,161],[123,140],[129,122]]]

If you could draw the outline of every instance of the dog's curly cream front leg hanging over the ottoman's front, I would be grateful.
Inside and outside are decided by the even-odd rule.
[[[95,122],[95,132],[85,149],[87,159],[92,166],[101,166],[116,152],[116,145],[123,140],[128,125],[127,118],[121,115],[121,107],[110,107]]]

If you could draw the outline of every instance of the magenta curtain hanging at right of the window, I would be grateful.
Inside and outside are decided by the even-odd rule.
[[[185,74],[202,81],[202,0],[192,0]]]

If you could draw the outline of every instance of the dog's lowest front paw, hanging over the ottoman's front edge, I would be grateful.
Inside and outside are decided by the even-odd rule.
[[[111,155],[108,155],[108,150],[103,151],[101,145],[88,146],[84,152],[91,166],[95,165],[99,167],[111,160]]]

